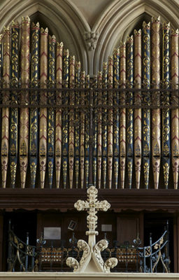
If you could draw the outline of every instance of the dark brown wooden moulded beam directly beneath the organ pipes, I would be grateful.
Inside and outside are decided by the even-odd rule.
[[[12,211],[13,209],[47,210],[60,209],[67,211],[74,209],[77,200],[86,200],[85,189],[1,189],[0,209]],[[164,210],[178,212],[178,190],[99,190],[99,200],[108,200],[111,209],[116,212],[122,210],[156,211]]]

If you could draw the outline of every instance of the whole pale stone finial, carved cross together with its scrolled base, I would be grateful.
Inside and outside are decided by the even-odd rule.
[[[97,200],[98,190],[94,186],[90,186],[87,189],[87,201],[78,200],[74,207],[78,211],[87,211],[87,228],[88,244],[84,240],[78,240],[78,248],[83,251],[83,256],[78,262],[75,258],[67,258],[66,265],[73,267],[74,272],[110,272],[110,268],[117,265],[117,258],[108,258],[106,262],[103,262],[101,258],[101,251],[108,247],[108,241],[102,239],[96,244],[96,231],[97,227],[97,211],[107,211],[110,208],[110,204],[103,200],[99,202]]]

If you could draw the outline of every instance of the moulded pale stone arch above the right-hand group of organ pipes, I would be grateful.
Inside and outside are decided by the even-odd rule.
[[[178,28],[178,9],[179,3],[175,0],[113,1],[92,29],[99,33],[94,52],[94,73],[101,68],[103,61],[108,59],[108,55],[112,55],[120,41],[127,38],[144,13],[147,17],[160,15],[162,22],[171,22],[171,27]]]

